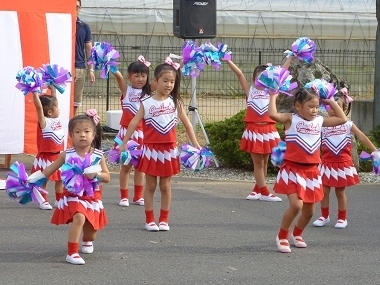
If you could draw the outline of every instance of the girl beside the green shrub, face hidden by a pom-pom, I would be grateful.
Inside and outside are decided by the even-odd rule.
[[[288,68],[292,59],[293,57],[289,57],[283,68]],[[244,118],[246,128],[240,142],[240,149],[251,155],[256,184],[246,199],[280,202],[282,199],[271,194],[266,185],[268,159],[272,148],[280,141],[280,136],[275,121],[268,116],[269,94],[257,89],[253,84],[268,65],[257,66],[253,71],[252,84],[249,84],[243,72],[232,61],[226,62],[236,74],[247,100],[247,112]]]

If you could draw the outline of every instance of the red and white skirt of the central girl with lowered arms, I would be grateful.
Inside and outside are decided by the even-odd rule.
[[[176,143],[144,143],[137,170],[159,177],[176,175],[180,172],[178,155]]]

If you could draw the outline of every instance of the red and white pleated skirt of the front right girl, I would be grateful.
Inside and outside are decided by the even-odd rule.
[[[277,174],[273,190],[278,194],[294,194],[305,203],[323,199],[321,174],[318,164],[301,165],[285,160]]]

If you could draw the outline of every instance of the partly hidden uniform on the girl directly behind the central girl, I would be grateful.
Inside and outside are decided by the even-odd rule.
[[[132,121],[136,113],[140,108],[140,96],[142,89],[135,89],[132,86],[128,86],[127,93],[124,97],[121,97],[121,108],[123,114],[120,119],[120,129],[117,134],[121,140],[124,139],[125,134],[127,133],[127,128],[129,123]],[[139,143],[140,145],[143,142],[143,123],[140,122],[136,130],[133,132],[131,139]]]

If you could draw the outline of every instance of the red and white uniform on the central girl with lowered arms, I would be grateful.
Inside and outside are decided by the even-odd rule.
[[[180,172],[177,149],[177,109],[173,98],[141,100],[144,106],[144,143],[137,169],[145,174],[167,177]]]

